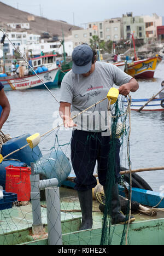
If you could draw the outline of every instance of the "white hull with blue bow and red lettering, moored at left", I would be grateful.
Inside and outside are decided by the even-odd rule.
[[[0,78],[0,82],[4,86],[5,91],[9,90],[26,90],[26,89],[44,89],[45,86],[42,81],[45,83],[48,88],[54,87],[58,85],[58,69],[52,69],[50,71],[45,71],[39,73],[40,79],[36,74],[34,75],[25,75],[23,78],[19,78],[18,76],[9,76]]]

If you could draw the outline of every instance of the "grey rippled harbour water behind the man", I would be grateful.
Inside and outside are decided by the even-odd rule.
[[[164,80],[164,61],[157,66],[153,79],[138,80],[139,89],[131,93],[132,98],[150,98],[160,91]],[[57,100],[60,99],[60,88],[51,89]],[[62,120],[58,116],[58,103],[46,89],[6,92],[11,105],[9,119],[3,126],[3,132],[11,137],[25,133],[44,132],[52,128],[55,120]],[[55,121],[56,125],[58,124]],[[164,166],[163,147],[164,111],[162,112],[131,112],[130,159],[132,170],[138,168]],[[56,132],[45,136],[39,144],[42,154],[46,154],[54,146]],[[69,143],[71,130],[57,132],[58,143]],[[70,146],[64,146],[64,152],[70,158]],[[127,164],[122,159],[122,166]],[[127,167],[127,166],[126,166]],[[73,173],[73,171],[72,171]],[[139,173],[155,191],[164,191],[164,170]]]

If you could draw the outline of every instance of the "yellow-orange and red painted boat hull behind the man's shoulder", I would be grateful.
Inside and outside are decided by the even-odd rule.
[[[155,69],[161,60],[161,57],[156,56],[127,63],[126,73],[134,78],[153,78]]]

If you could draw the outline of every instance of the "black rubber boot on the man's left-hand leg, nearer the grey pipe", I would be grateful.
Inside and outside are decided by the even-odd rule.
[[[92,219],[92,189],[87,191],[78,191],[78,197],[82,213],[82,223],[79,230],[91,229]]]

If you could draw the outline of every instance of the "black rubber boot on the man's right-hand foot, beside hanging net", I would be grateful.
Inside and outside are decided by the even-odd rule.
[[[104,188],[105,190],[105,188]],[[104,191],[106,195],[106,192]],[[111,223],[114,224],[127,224],[128,223],[128,216],[125,216],[121,213],[121,205],[119,200],[119,189],[118,184],[114,184],[112,188],[112,196],[111,196],[111,207],[110,207],[110,216],[112,218]],[[130,223],[134,222],[136,219],[131,216]]]

